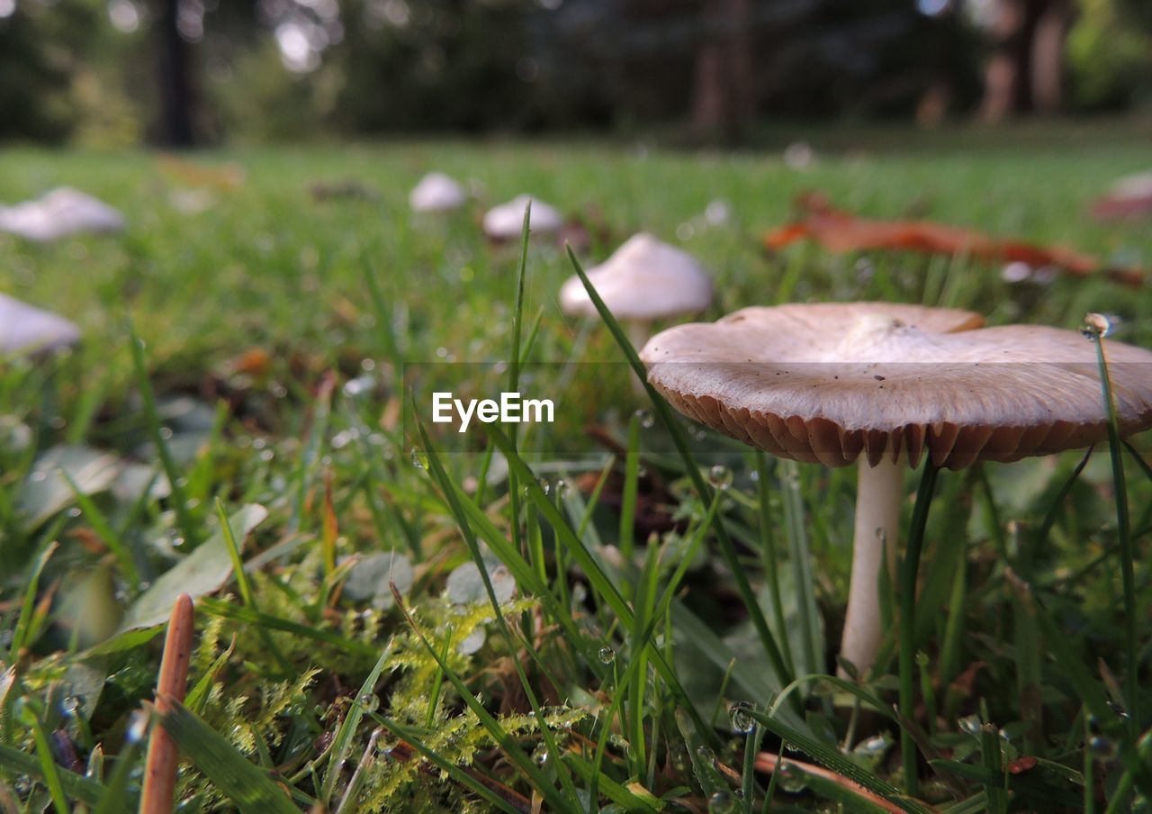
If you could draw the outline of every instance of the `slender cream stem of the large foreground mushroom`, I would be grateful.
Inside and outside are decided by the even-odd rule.
[[[904,465],[885,459],[869,466],[862,457],[858,466],[852,574],[840,655],[863,674],[872,666],[884,633],[880,630],[880,568],[888,568],[890,583],[896,578]],[[840,673],[843,677],[842,670]]]

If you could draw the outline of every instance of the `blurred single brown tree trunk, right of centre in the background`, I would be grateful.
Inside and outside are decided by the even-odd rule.
[[[691,128],[705,142],[738,142],[756,112],[751,0],[703,0],[692,88]]]

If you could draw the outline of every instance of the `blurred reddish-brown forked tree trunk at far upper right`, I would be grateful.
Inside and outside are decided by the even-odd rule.
[[[992,25],[993,51],[984,71],[980,118],[1060,110],[1066,0],[999,0]]]

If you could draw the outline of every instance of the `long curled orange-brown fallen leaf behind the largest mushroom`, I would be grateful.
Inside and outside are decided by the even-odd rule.
[[[1064,247],[1002,240],[975,229],[931,220],[859,218],[834,208],[819,193],[805,193],[796,203],[802,219],[765,234],[764,246],[767,249],[775,251],[811,238],[835,253],[903,249],[926,254],[969,255],[982,261],[1026,263],[1036,267],[1055,266],[1077,277],[1100,272],[1129,286],[1144,284],[1145,274],[1139,269],[1109,269],[1091,255]]]

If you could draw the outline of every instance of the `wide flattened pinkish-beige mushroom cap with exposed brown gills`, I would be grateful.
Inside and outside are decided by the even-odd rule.
[[[641,352],[681,413],[783,458],[847,466],[930,454],[960,469],[1107,435],[1096,346],[1075,331],[982,327],[970,311],[882,302],[745,308]],[[1152,351],[1108,341],[1122,435],[1152,427]]]

